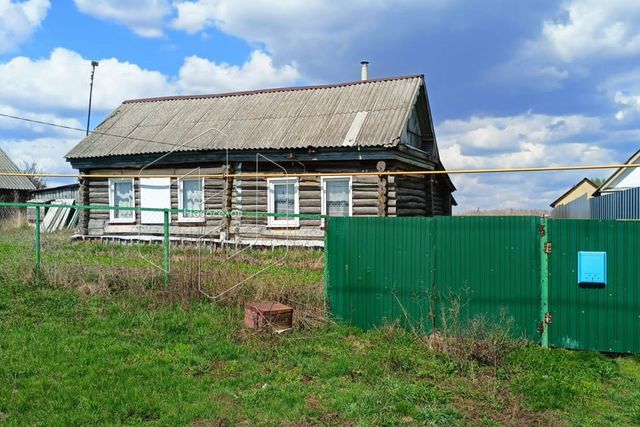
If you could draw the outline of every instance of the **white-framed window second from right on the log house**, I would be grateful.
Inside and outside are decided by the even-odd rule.
[[[272,178],[267,183],[269,213],[284,215],[268,217],[269,227],[297,227],[300,224],[299,218],[286,215],[300,212],[298,178]]]

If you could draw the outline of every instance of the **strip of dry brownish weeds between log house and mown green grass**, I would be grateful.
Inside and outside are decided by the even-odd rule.
[[[0,234],[0,274],[23,283],[36,281],[33,234],[29,227]],[[173,245],[168,287],[164,286],[162,257],[160,245],[72,241],[68,232],[48,233],[42,235],[37,282],[46,279],[54,286],[77,289],[84,296],[128,293],[148,297],[157,306],[178,304],[183,308],[212,296],[216,304],[233,308],[273,300],[294,307],[296,327],[309,329],[326,321],[320,251],[237,252]],[[284,262],[278,262],[282,259]]]

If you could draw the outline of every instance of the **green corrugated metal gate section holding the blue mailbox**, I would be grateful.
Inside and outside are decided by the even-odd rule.
[[[640,222],[549,221],[549,345],[640,353]],[[578,286],[578,251],[607,253],[603,288]]]

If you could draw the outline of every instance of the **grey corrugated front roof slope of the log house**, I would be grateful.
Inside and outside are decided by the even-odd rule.
[[[68,159],[170,151],[393,147],[423,76],[125,101]]]

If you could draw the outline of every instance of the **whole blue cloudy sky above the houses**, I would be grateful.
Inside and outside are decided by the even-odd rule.
[[[84,128],[123,100],[424,74],[446,168],[622,163],[640,148],[637,0],[0,0],[0,113]],[[19,165],[82,132],[0,117]],[[612,171],[456,175],[457,211],[537,209]],[[63,181],[49,179],[54,185]]]

